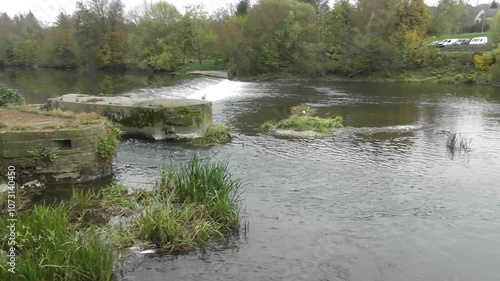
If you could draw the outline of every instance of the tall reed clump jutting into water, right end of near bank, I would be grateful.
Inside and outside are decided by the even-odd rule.
[[[239,227],[240,187],[226,163],[202,162],[196,155],[179,169],[163,169],[155,197],[135,220],[138,236],[167,251],[223,239]]]

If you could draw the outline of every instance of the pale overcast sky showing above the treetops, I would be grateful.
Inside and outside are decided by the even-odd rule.
[[[122,0],[125,3],[125,9],[130,11],[137,5],[143,3],[144,0]],[[156,2],[158,0],[153,0]],[[253,0],[252,2],[256,2]],[[330,0],[333,3],[335,0]],[[438,0],[425,0],[427,4],[435,5]],[[77,0],[0,0],[0,12],[7,12],[10,16],[18,13],[27,13],[32,11],[35,16],[43,22],[52,22],[57,14],[64,10],[67,13],[72,13],[75,9]],[[218,7],[226,6],[230,3],[237,3],[238,0],[167,0],[174,4],[180,11],[183,7],[192,4],[203,4],[208,11],[213,11]],[[471,5],[477,3],[490,3],[490,0],[469,0]]]

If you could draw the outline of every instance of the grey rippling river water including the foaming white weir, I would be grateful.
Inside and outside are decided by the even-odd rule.
[[[125,140],[114,180],[151,185],[163,163],[193,152],[227,159],[244,182],[248,231],[227,247],[148,255],[123,280],[498,280],[500,89],[201,77],[160,84],[111,94],[206,94],[235,139],[197,149]],[[318,140],[260,133],[262,122],[302,103],[344,116],[346,129]],[[471,138],[471,151],[448,151],[449,131]]]

